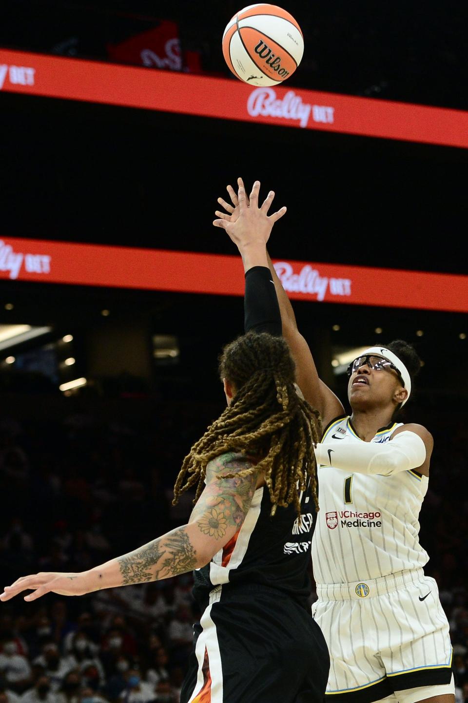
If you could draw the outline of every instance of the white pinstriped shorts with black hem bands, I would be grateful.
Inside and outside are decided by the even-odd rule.
[[[436,581],[422,569],[319,584],[317,595],[312,614],[330,652],[330,703],[371,703],[396,691],[402,703],[414,703],[427,692],[410,701],[405,690],[450,685],[448,620]]]

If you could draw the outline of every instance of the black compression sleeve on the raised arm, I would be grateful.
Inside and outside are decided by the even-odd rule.
[[[244,332],[268,332],[281,337],[281,313],[272,273],[267,266],[253,266],[246,273],[246,291],[243,298]]]

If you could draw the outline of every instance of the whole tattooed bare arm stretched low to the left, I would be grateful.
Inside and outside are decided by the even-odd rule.
[[[205,566],[236,534],[247,515],[255,492],[257,472],[246,477],[235,474],[249,467],[248,460],[239,454],[218,457],[208,464],[206,488],[196,503],[189,524],[86,572],[22,576],[11,586],[6,586],[0,600],[10,600],[22,591],[34,591],[25,596],[28,601],[45,593],[84,595],[102,588],[168,579]],[[227,478],[227,474],[234,474],[234,477]]]

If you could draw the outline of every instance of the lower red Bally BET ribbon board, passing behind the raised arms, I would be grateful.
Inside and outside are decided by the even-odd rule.
[[[310,302],[468,312],[468,276],[275,261],[288,295]],[[4,238],[0,279],[243,295],[240,257]]]

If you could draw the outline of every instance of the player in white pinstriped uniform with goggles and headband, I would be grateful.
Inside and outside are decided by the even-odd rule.
[[[258,202],[259,188],[257,181],[251,202]],[[421,425],[394,420],[420,361],[405,342],[367,349],[349,366],[347,415],[317,374],[255,221],[233,236],[238,196],[227,190],[232,205],[219,198],[228,214],[218,211],[213,224],[226,229],[246,269],[269,266],[297,383],[325,428],[316,447],[320,510],[312,561],[314,617],[331,659],[328,703],[454,703],[448,621],[436,582],[424,576],[429,557],[418,540],[432,436]]]

